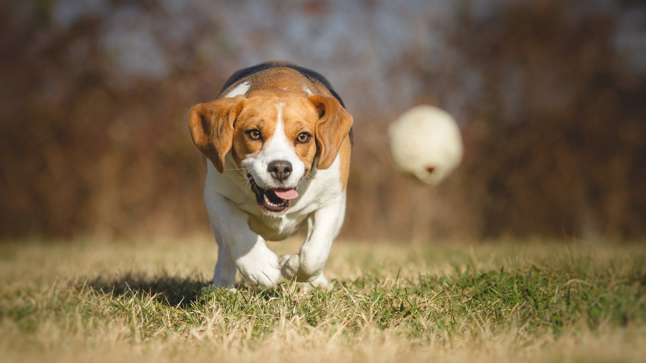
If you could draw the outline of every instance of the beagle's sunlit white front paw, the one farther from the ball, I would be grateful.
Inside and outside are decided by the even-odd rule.
[[[236,266],[249,285],[273,287],[280,281],[278,257],[265,245],[256,245],[238,258]]]

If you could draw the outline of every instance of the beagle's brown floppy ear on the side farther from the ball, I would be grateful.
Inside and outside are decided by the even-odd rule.
[[[189,112],[191,138],[200,152],[224,171],[224,157],[233,145],[233,124],[244,107],[244,96],[194,105]]]

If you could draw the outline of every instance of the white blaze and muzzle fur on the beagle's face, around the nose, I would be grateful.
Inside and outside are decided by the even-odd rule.
[[[242,160],[242,166],[250,168],[249,172],[251,172],[251,176],[264,189],[278,187],[295,188],[305,173],[305,163],[298,158],[293,142],[289,142],[285,134],[285,122],[282,117],[285,103],[278,103],[277,107],[278,116],[276,117],[274,134],[267,140],[265,147],[258,154],[249,155]],[[282,185],[272,178],[269,171],[267,171],[267,165],[271,161],[276,160],[289,161],[292,167],[291,174],[284,180]]]

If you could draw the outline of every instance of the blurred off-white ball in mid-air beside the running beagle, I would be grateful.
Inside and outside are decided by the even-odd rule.
[[[388,135],[399,170],[421,182],[441,182],[462,160],[460,129],[437,107],[422,105],[404,112],[390,125]]]

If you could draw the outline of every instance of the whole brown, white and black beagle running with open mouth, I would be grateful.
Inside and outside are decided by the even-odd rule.
[[[236,271],[251,285],[281,276],[326,287],[323,267],[346,211],[352,116],[329,82],[293,63],[234,73],[214,101],[195,105],[189,129],[207,166],[204,200],[218,244],[213,286]],[[306,227],[297,254],[267,240]]]

